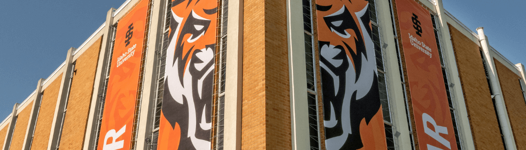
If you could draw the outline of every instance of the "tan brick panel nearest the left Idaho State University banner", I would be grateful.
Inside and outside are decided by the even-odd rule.
[[[82,149],[102,37],[76,60],[60,149]]]

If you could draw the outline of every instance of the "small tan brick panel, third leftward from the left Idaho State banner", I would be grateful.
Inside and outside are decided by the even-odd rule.
[[[15,131],[13,132],[11,146],[9,146],[10,150],[22,149],[22,146],[24,144],[24,138],[27,132],[27,123],[29,122],[29,114],[31,113],[32,107],[33,107],[33,102],[27,104],[24,110],[18,110],[21,112],[18,113],[18,116],[16,119]]]

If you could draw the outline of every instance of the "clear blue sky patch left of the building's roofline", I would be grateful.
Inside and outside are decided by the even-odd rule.
[[[125,1],[0,1],[0,121]]]

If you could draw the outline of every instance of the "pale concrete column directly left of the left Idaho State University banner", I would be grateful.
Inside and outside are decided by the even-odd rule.
[[[97,64],[97,71],[95,72],[95,82],[93,84],[93,95],[92,95],[92,102],[89,106],[89,116],[88,121],[86,122],[86,133],[84,135],[84,144],[82,149],[87,150],[89,147],[93,147],[95,137],[98,136],[98,133],[96,133],[94,130],[96,130],[97,126],[97,108],[99,108],[100,103],[100,95],[102,95],[102,87],[105,86],[104,81],[106,77],[106,68],[109,64],[107,64],[108,59],[110,59],[108,56],[108,53],[110,52],[110,45],[112,44],[112,27],[113,27],[113,12],[115,11],[115,8],[109,8],[108,12],[106,13],[106,22],[104,29],[102,29],[102,32],[104,33],[101,47],[100,47],[100,53],[99,53],[99,59]]]

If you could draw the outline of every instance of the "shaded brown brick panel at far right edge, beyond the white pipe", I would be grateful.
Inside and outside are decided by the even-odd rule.
[[[493,59],[493,61],[495,68],[497,68],[508,117],[510,117],[515,145],[517,145],[517,149],[526,149],[526,103],[522,94],[520,77],[498,60]]]

